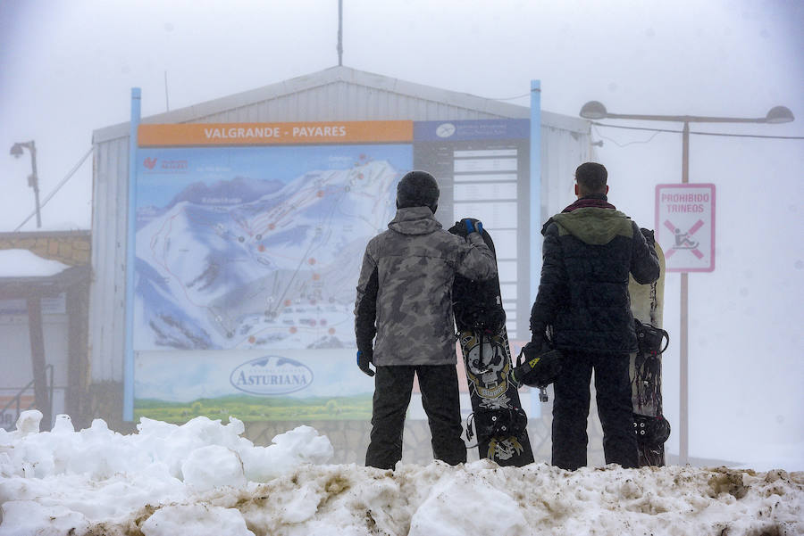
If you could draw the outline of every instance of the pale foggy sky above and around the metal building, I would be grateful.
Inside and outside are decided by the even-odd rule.
[[[14,142],[36,141],[44,199],[91,147],[93,129],[129,119],[131,87],[142,88],[147,117],[337,64],[337,5],[0,2],[0,232],[34,207],[29,154],[15,161]],[[782,104],[797,117],[693,131],[804,136],[802,51],[795,0],[344,0],[344,64],[357,70],[523,106],[540,79],[542,108],[574,117],[590,100],[611,112],[725,117],[764,117]],[[656,184],[681,180],[681,136],[592,134],[604,143],[610,200],[653,227]],[[802,178],[804,140],[691,137],[691,182],[717,185],[717,268],[690,276],[692,456],[804,444]],[[91,180],[88,161],[42,210],[43,228],[88,228]],[[36,230],[35,219],[23,230]],[[667,276],[671,336],[678,279]],[[671,421],[677,348],[665,361]]]

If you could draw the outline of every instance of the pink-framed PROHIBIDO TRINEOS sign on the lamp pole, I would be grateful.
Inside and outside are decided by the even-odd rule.
[[[668,272],[714,270],[715,185],[657,185],[655,233]]]

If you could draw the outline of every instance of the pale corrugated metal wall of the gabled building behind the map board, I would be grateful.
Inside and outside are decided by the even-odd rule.
[[[529,109],[523,106],[488,101],[473,95],[424,87],[348,68],[336,68],[144,118],[142,122],[484,120],[528,117]],[[121,124],[95,132],[92,216],[94,279],[89,313],[93,383],[122,381],[128,131],[128,124]],[[589,154],[588,123],[542,112],[541,136],[544,214],[563,207],[565,201],[571,199],[574,169]],[[565,191],[570,194],[568,197]]]

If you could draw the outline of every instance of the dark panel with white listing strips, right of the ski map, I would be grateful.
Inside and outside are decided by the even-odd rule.
[[[530,251],[526,232],[530,212],[521,206],[529,197],[529,183],[522,180],[530,169],[529,128],[528,120],[415,123],[415,167],[431,170],[442,185],[441,197],[446,198],[441,204],[447,210],[437,216],[445,227],[477,218],[493,233],[512,339],[529,336],[530,273],[523,256]]]

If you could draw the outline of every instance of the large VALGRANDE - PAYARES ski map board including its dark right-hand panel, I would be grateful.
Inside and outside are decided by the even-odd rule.
[[[495,234],[509,318],[527,311],[528,121],[444,124],[141,125],[135,418],[369,418],[357,277],[411,169],[439,180],[443,224],[475,217]]]

